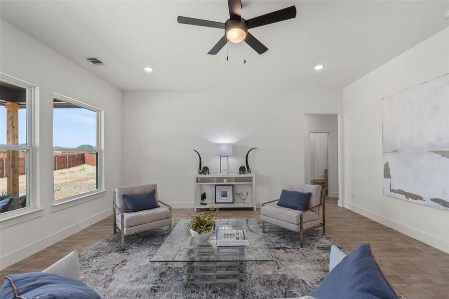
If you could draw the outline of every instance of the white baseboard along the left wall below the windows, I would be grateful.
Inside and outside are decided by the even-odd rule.
[[[25,247],[17,249],[16,251],[11,252],[10,254],[7,254],[0,258],[0,265],[1,265],[0,270],[4,269],[6,267],[9,267],[12,264],[17,263],[17,262],[29,257],[30,255],[35,254],[36,252],[38,252],[56,242],[61,241],[64,238],[67,238],[67,237],[79,232],[82,229],[84,229],[100,220],[103,220],[104,218],[106,218],[110,215],[112,215],[112,210],[108,208],[107,210],[100,212],[97,215],[94,215],[94,216],[87,218],[83,221],[75,223],[72,226],[64,228],[54,234],[51,234],[51,235],[49,235],[43,239],[40,239],[39,241],[36,241],[32,244],[29,244]]]

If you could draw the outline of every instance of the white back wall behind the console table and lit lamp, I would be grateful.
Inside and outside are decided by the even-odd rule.
[[[342,91],[152,91],[123,93],[123,180],[157,183],[174,207],[193,206],[197,149],[219,172],[215,143],[233,143],[230,172],[256,174],[256,200],[278,198],[286,182],[304,181],[304,113],[341,113]]]

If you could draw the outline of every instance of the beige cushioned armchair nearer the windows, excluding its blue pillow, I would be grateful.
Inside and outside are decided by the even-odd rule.
[[[132,213],[126,212],[128,208],[123,199],[123,194],[146,193],[152,189],[156,190],[155,196],[160,205],[159,208]],[[117,187],[113,192],[113,206],[114,234],[117,233],[117,229],[120,230],[122,250],[125,249],[125,236],[166,225],[168,225],[168,231],[171,232],[171,206],[158,199],[156,184]]]

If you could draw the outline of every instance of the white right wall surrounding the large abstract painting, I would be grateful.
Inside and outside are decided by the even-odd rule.
[[[448,72],[446,28],[344,89],[345,207],[446,252],[448,212],[383,195],[381,99]]]

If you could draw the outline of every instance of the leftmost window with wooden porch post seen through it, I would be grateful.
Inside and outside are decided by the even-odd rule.
[[[0,74],[0,213],[32,206],[33,86]]]

